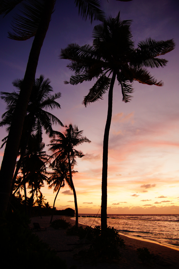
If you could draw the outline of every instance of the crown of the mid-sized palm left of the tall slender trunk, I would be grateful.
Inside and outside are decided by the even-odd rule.
[[[52,139],[48,146],[51,146],[50,151],[54,152],[52,155],[55,160],[67,159],[68,154],[70,154],[72,167],[76,164],[76,157],[83,157],[84,154],[81,150],[76,150],[74,147],[81,145],[84,142],[90,143],[91,141],[87,139],[86,136],[82,136],[83,130],[79,131],[78,126],[65,125],[66,130],[61,132],[55,132],[56,139]]]

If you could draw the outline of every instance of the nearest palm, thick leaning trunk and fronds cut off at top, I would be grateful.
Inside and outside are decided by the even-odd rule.
[[[35,80],[36,68],[40,51],[48,31],[51,15],[54,10],[55,0],[6,0],[0,5],[0,14],[8,14],[14,7],[22,2],[20,15],[13,18],[12,30],[9,38],[14,40],[27,40],[34,37],[23,84],[19,93],[16,108],[14,109],[9,135],[0,170],[1,196],[0,210],[7,210],[12,187],[12,179],[16,166],[16,158],[19,152],[21,133],[23,130],[24,118],[27,111],[33,83]],[[89,17],[93,20],[103,20],[104,12],[101,11],[97,0],[75,0],[79,7],[79,14],[84,19]],[[9,154],[11,152],[11,154]],[[6,180],[4,180],[6,178]]]

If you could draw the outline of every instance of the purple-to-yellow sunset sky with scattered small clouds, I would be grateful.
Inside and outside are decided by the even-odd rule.
[[[176,48],[164,55],[169,62],[165,68],[148,69],[163,87],[134,82],[133,99],[122,102],[120,86],[116,82],[113,94],[113,112],[109,133],[108,153],[108,214],[179,214],[179,3],[177,0],[133,0],[120,2],[103,0],[102,10],[107,16],[116,17],[120,11],[122,20],[133,20],[131,33],[135,46],[151,37],[155,40],[173,38]],[[33,38],[26,41],[10,40],[8,31],[12,16],[0,17],[0,91],[12,92],[13,80],[24,77]],[[36,78],[41,74],[49,78],[54,93],[61,92],[60,110],[53,110],[64,125],[78,125],[91,143],[77,149],[85,154],[78,158],[73,176],[78,212],[97,214],[101,206],[101,174],[103,136],[107,118],[107,99],[82,105],[94,81],[77,86],[66,85],[72,72],[66,68],[68,60],[60,60],[62,48],[70,43],[92,45],[94,21],[78,16],[74,0],[56,1],[55,11],[41,49]],[[0,100],[0,114],[6,104]],[[54,126],[54,130],[64,128]],[[0,140],[7,135],[0,129]],[[48,136],[43,136],[49,144]],[[48,147],[46,146],[47,153]],[[0,150],[2,161],[4,148]],[[41,189],[51,206],[55,193],[45,185]],[[73,193],[68,186],[61,188],[57,196],[57,209],[74,208]]]

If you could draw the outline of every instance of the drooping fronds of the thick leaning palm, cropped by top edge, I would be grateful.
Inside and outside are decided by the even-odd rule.
[[[22,2],[22,3],[21,3]],[[47,0],[7,0],[3,1],[0,6],[0,14],[7,15],[18,4],[20,5],[19,14],[14,16],[11,28],[12,32],[8,32],[9,38],[14,40],[27,40],[35,36],[39,23],[41,21],[45,3]],[[53,0],[55,5],[55,0]],[[75,0],[76,7],[78,7],[79,15],[83,19],[100,20],[105,19],[105,13],[100,10],[100,2],[98,0]]]

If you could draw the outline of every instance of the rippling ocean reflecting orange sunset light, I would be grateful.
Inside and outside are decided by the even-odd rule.
[[[82,224],[101,225],[100,218],[86,217],[89,214],[79,216],[81,217],[78,221]],[[123,235],[148,239],[179,249],[179,214],[108,214],[107,216],[107,225],[114,227]]]

